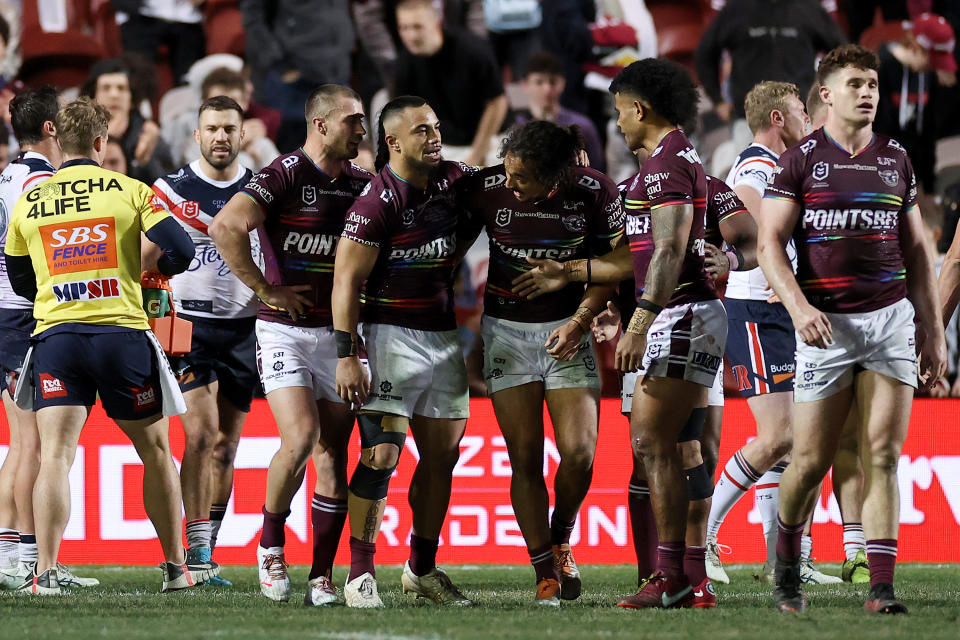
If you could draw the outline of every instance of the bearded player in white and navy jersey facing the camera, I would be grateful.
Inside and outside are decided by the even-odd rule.
[[[194,137],[201,157],[157,179],[153,191],[196,247],[190,267],[171,280],[177,313],[193,323],[190,353],[171,362],[187,413],[180,484],[189,554],[209,561],[233,488],[233,459],[258,383],[257,299],[227,267],[207,225],[252,177],[237,155],[243,111],[225,96],[201,105]],[[251,251],[260,247],[251,234]],[[145,261],[145,265],[148,264]],[[230,582],[214,576],[212,584]]]

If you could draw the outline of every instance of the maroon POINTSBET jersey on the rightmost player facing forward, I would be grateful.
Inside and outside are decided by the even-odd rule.
[[[917,186],[896,140],[874,134],[851,156],[818,129],[780,156],[764,197],[802,207],[793,239],[797,282],[810,304],[862,313],[907,295],[900,225]]]

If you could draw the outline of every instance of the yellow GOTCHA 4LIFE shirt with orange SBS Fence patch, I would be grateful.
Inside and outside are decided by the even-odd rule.
[[[140,232],[168,217],[147,185],[74,160],[24,193],[6,253],[37,275],[34,335],[65,322],[149,329],[140,289]]]

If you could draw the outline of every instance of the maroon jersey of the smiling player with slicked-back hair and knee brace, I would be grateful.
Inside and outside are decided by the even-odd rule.
[[[460,207],[451,187],[473,167],[443,161],[426,191],[385,166],[353,203],[343,237],[380,249],[363,293],[363,322],[448,331]]]

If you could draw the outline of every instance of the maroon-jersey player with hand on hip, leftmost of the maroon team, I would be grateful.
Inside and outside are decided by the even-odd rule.
[[[284,522],[313,452],[313,566],[305,604],[340,602],[330,572],[347,517],[350,405],[334,386],[330,314],[333,261],[344,216],[371,175],[350,162],[366,133],[363,104],[350,88],[322,85],[305,106],[303,147],[254,175],[210,223],[230,270],[260,298],[257,365],[280,431],[267,471],[263,533],[257,546],[260,591],[290,597]],[[257,230],[264,269],[250,253]]]

